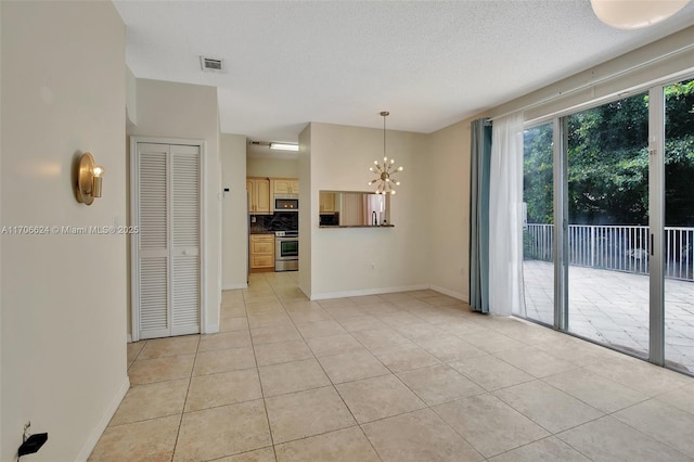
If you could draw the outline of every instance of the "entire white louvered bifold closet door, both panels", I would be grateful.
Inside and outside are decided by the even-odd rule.
[[[200,333],[201,146],[136,145],[137,338]]]

